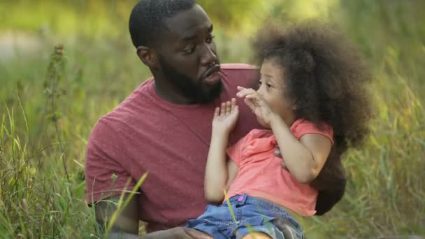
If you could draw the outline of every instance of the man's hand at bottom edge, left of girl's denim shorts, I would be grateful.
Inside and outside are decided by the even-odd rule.
[[[212,237],[201,233],[195,229],[187,229],[184,227],[175,227],[164,231],[155,231],[154,233],[148,233],[142,236],[143,239],[161,239],[161,238],[175,238],[175,239],[211,239]]]

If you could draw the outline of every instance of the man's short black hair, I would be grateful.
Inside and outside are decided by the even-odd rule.
[[[194,0],[141,0],[134,6],[129,19],[133,45],[152,46],[166,30],[165,20],[183,10],[192,9]]]

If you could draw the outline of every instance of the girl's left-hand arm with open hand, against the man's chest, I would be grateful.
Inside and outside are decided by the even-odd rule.
[[[235,99],[222,103],[221,108],[215,110],[204,181],[207,201],[223,201],[223,190],[227,190],[230,182],[236,177],[237,167],[236,164],[233,165],[233,161],[226,160],[226,147],[229,133],[236,125],[238,113]]]

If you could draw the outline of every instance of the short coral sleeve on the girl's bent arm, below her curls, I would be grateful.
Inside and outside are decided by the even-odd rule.
[[[312,122],[305,119],[298,119],[291,126],[291,131],[294,133],[294,136],[299,140],[303,135],[309,133],[317,133],[322,136],[326,136],[331,140],[333,145],[333,129],[329,124],[322,124],[321,126],[316,126]]]

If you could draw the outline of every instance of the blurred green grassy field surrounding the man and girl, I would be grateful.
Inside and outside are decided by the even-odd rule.
[[[125,26],[133,3],[58,2],[0,3],[0,238],[103,237],[84,201],[87,138],[150,76]],[[424,1],[252,2],[232,26],[255,22],[250,15],[321,17],[338,23],[373,71],[372,133],[345,157],[343,201],[300,219],[308,238],[425,236]],[[249,61],[255,27],[215,27],[223,62]]]

